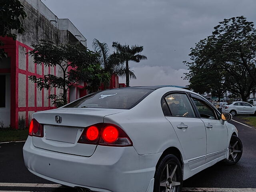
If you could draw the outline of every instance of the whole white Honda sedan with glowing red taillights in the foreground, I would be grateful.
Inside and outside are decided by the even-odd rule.
[[[104,90],[34,113],[24,162],[37,176],[84,191],[180,192],[194,174],[240,160],[231,118],[185,89]]]

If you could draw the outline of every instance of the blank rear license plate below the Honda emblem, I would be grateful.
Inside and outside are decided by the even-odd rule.
[[[75,143],[78,128],[66,126],[44,125],[45,138],[48,140]]]

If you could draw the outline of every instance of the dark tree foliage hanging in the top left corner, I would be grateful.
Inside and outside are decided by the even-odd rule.
[[[24,32],[22,27],[21,18],[26,17],[26,12],[24,11],[24,6],[19,0],[1,0],[0,1],[0,36],[12,37],[16,39],[16,33],[12,33],[11,30],[16,30],[19,34]],[[0,46],[3,46],[3,42],[0,41]],[[2,57],[7,57],[3,49],[0,49],[0,59]]]

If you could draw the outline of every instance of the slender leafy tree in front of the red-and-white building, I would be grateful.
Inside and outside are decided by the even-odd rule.
[[[59,95],[51,94],[49,98],[53,99],[53,104],[57,107],[67,103],[67,91],[71,86],[77,85],[79,80],[87,82],[88,90],[97,91],[98,83],[104,78],[109,78],[108,74],[102,71],[98,64],[98,54],[77,44],[54,45],[53,42],[41,40],[40,44],[33,44],[34,50],[28,54],[34,57],[34,62],[38,65],[58,66],[62,75],[54,76],[46,74],[44,77],[30,76],[30,80],[36,83],[36,86],[42,90],[52,89],[54,87],[62,90]],[[96,86],[96,87],[95,87]]]

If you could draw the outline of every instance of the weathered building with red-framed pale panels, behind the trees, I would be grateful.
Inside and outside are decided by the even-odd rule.
[[[24,5],[27,18],[22,23],[23,34],[17,34],[17,39],[0,37],[4,43],[4,51],[8,54],[8,64],[0,65],[0,74],[6,74],[6,108],[0,108],[4,126],[12,128],[28,127],[32,114],[37,111],[54,108],[49,94],[60,94],[62,90],[39,90],[29,76],[43,77],[45,74],[62,76],[60,67],[46,67],[34,64],[33,58],[26,54],[32,50],[33,44],[40,40],[50,40],[56,45],[62,43],[80,43],[86,46],[86,38],[68,19],[58,19],[40,0],[20,0]],[[54,20],[54,21],[51,21]],[[12,30],[12,33],[16,33]],[[113,76],[110,88],[118,88],[118,77]],[[68,91],[68,100],[72,101],[88,94],[86,83],[79,82]],[[1,124],[0,124],[1,126]]]

